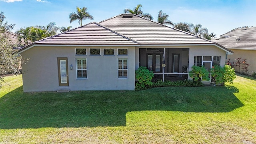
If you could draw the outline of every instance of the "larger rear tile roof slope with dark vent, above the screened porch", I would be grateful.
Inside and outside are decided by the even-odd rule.
[[[120,14],[99,23],[141,44],[214,44],[135,14]]]

